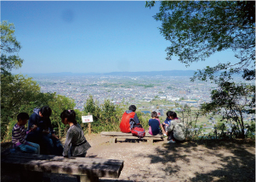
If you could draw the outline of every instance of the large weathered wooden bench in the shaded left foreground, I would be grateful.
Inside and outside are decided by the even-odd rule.
[[[20,171],[20,181],[43,181],[43,173],[54,173],[75,175],[78,182],[85,182],[99,181],[100,177],[117,179],[123,161],[5,152],[1,156],[1,167],[4,170]]]

